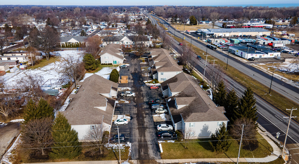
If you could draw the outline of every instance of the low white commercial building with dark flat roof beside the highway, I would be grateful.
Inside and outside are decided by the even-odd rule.
[[[280,52],[269,50],[268,47],[259,45],[248,45],[248,46],[229,46],[229,52],[238,55],[242,58],[276,58],[280,59]]]

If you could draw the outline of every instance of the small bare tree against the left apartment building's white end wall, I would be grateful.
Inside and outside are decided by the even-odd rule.
[[[90,142],[90,152],[96,154],[97,152],[103,154],[104,143],[108,142],[109,132],[105,131],[105,126],[102,124],[95,125],[94,129],[88,129],[84,137],[85,140]]]

